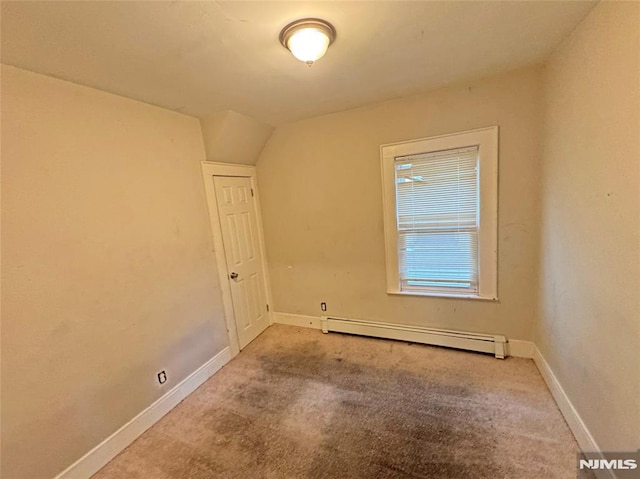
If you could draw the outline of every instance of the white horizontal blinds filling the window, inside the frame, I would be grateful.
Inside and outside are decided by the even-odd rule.
[[[401,290],[478,292],[478,146],[396,157]]]

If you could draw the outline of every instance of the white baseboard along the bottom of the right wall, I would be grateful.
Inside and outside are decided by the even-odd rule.
[[[565,421],[567,421],[569,429],[571,429],[576,441],[578,441],[580,449],[582,449],[583,452],[596,453],[599,455],[600,459],[605,459],[605,457],[599,452],[600,448],[589,432],[589,429],[587,429],[587,426],[580,417],[580,414],[578,414],[578,411],[569,399],[569,396],[567,396],[567,393],[562,388],[560,381],[558,381],[558,378],[553,373],[549,363],[544,359],[544,356],[542,356],[542,353],[535,344],[533,344],[533,361],[535,362],[538,371],[540,371],[544,382],[547,383],[547,387],[549,388],[549,391],[551,391],[551,396],[553,396],[553,399],[556,401]],[[593,472],[596,474],[598,479],[616,479],[616,474],[612,470],[598,470]]]

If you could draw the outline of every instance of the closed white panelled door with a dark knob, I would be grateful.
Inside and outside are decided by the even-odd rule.
[[[214,176],[240,349],[267,326],[266,287],[251,178]]]

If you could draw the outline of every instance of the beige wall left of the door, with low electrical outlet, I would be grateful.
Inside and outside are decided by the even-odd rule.
[[[203,159],[195,118],[2,67],[2,477],[53,477],[226,346]]]

